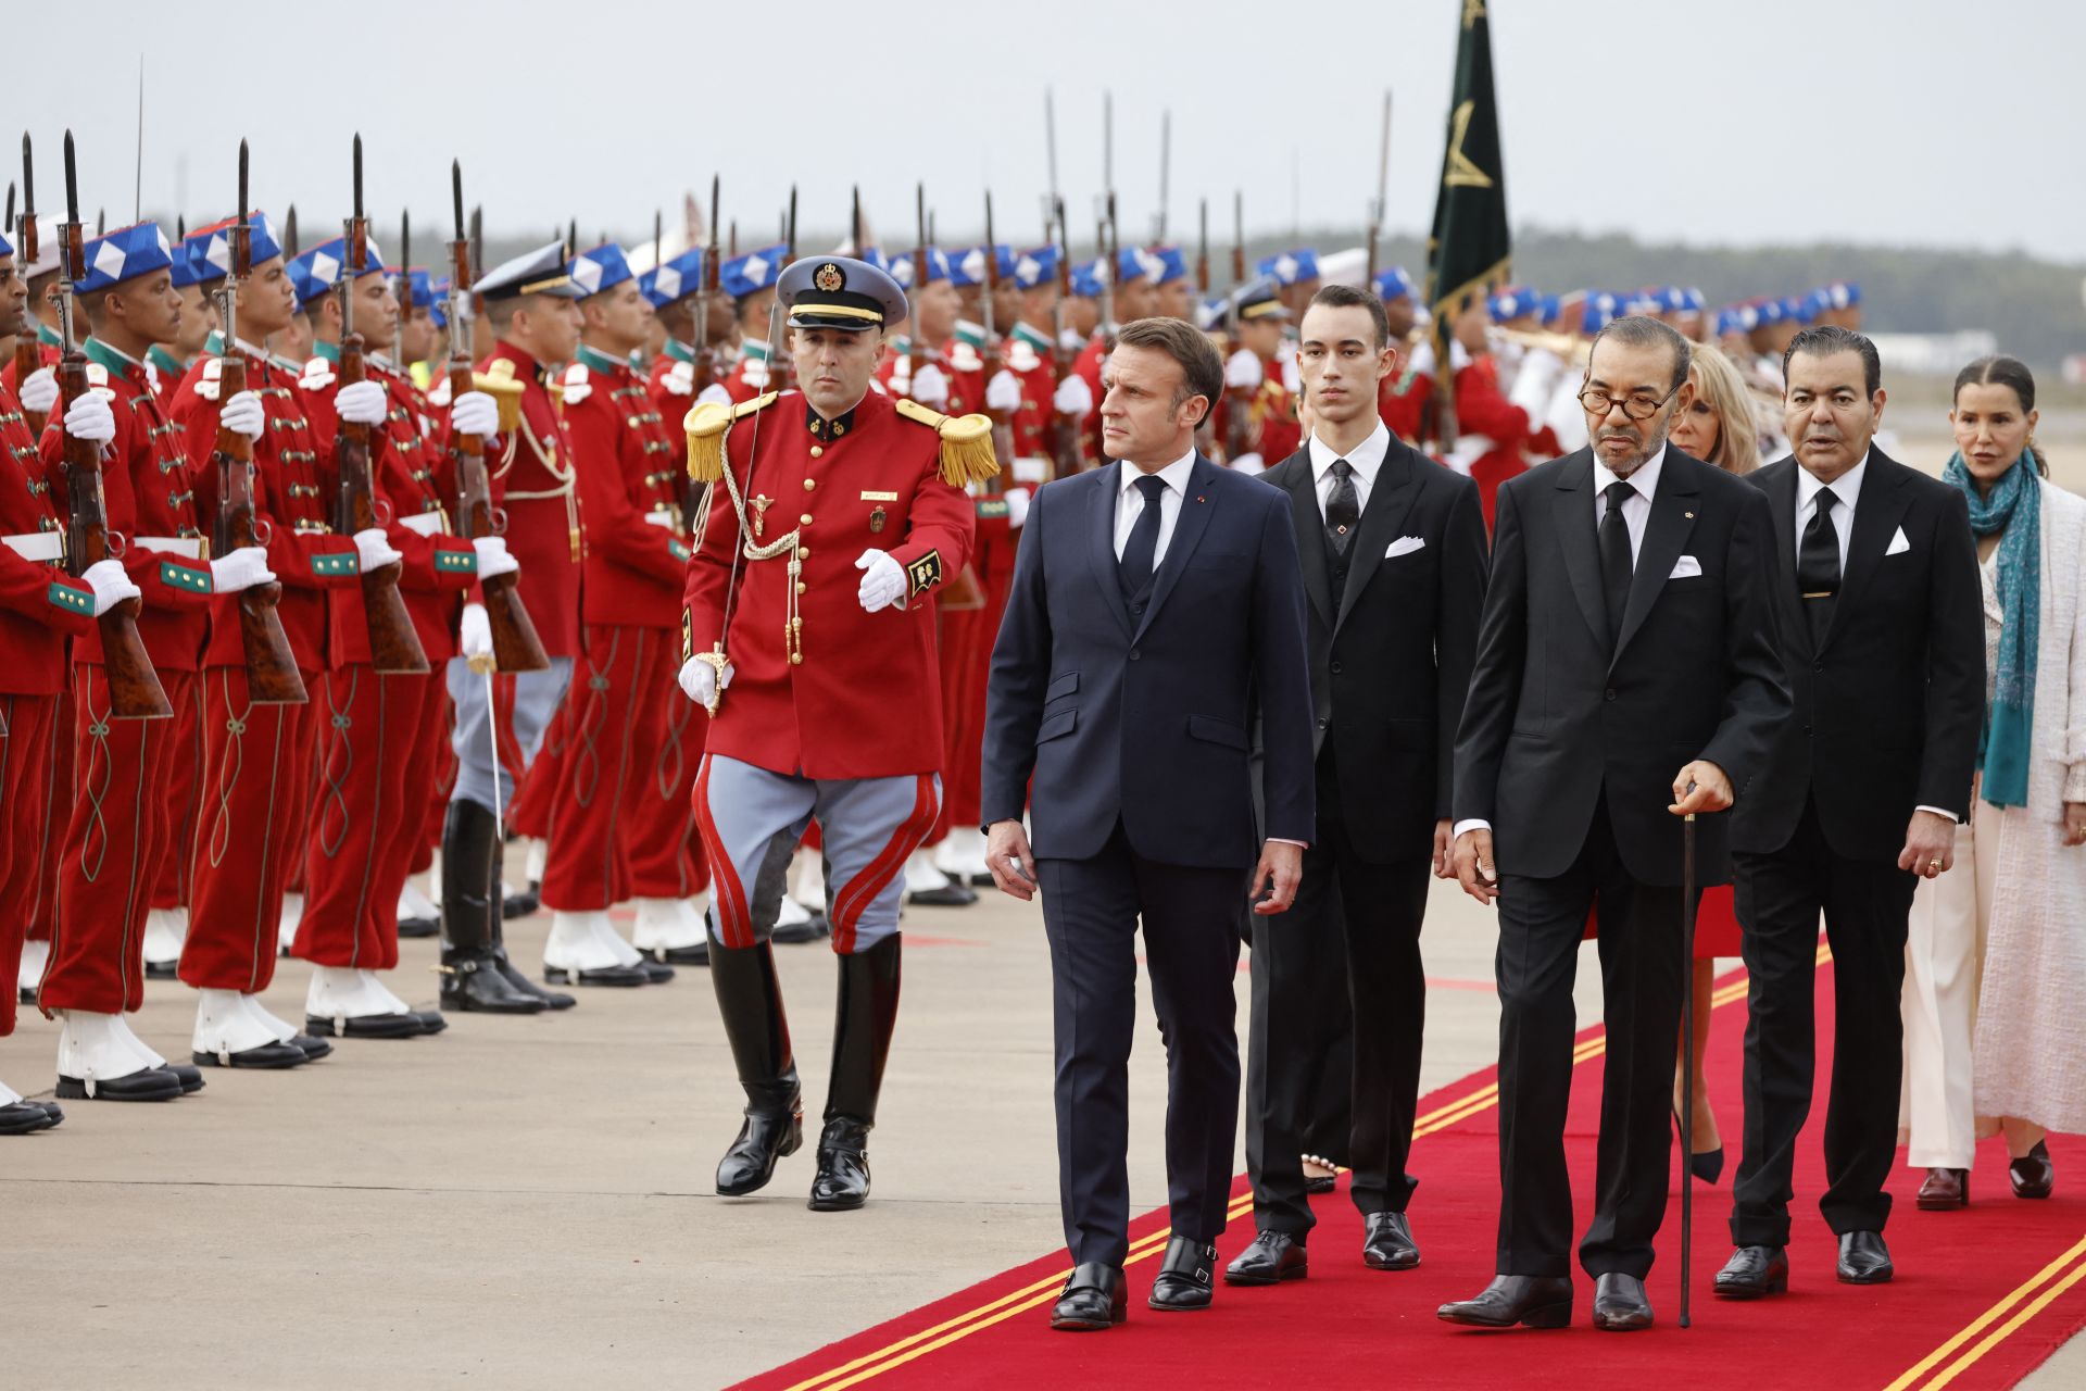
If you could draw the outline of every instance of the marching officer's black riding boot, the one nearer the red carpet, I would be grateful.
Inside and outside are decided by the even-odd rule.
[[[870,1197],[870,1126],[884,1084],[891,1028],[899,1022],[899,934],[841,957],[832,1020],[826,1130],[818,1137],[811,1212],[847,1212]]]

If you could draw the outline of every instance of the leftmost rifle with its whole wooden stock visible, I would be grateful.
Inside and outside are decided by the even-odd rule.
[[[58,392],[65,407],[86,396],[88,355],[73,342],[73,294],[88,275],[88,252],[79,225],[79,179],[73,173],[73,131],[65,131],[65,225],[58,227]],[[94,440],[65,436],[67,561],[77,578],[88,565],[123,555],[123,538],[108,530],[102,505],[102,448]],[[100,615],[102,669],[108,674],[108,713],[117,719],[167,719],[173,705],[152,672],[152,657],[138,636],[138,599],[125,599]]]

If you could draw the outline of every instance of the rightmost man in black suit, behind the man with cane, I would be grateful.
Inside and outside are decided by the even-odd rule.
[[[1871,444],[1875,344],[1844,327],[1781,357],[1794,457],[1746,478],[1775,519],[1775,607],[1796,715],[1731,826],[1750,972],[1738,1251],[1717,1293],[1788,1289],[1796,1134],[1811,1112],[1819,913],[1834,953],[1825,1195],[1838,1276],[1892,1276],[1907,916],[1955,861],[1984,724],[1984,590],[1963,494]]]

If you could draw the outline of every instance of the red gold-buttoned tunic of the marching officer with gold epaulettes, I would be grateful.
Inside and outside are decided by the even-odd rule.
[[[726,450],[753,536],[741,536],[726,486],[713,484],[684,596],[684,651],[707,653],[722,638],[734,669],[709,753],[805,778],[939,772],[928,601],[968,563],[976,517],[972,498],[943,482],[937,432],[874,390],[832,421],[786,392],[741,407]],[[791,551],[741,559],[726,634],[741,542],[763,546],[793,530],[801,576],[791,576]],[[905,571],[899,609],[862,611],[855,559],[872,548]]]

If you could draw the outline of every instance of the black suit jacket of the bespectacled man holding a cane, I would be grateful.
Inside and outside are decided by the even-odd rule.
[[[1500,488],[1454,815],[1491,822],[1502,874],[1564,874],[1606,790],[1629,874],[1679,884],[1673,774],[1708,759],[1746,805],[1773,730],[1790,717],[1767,498],[1669,444],[1650,507],[1610,646],[1594,453]],[[1675,576],[1683,559],[1698,574]],[[1700,884],[1729,876],[1727,820],[1696,820]]]

